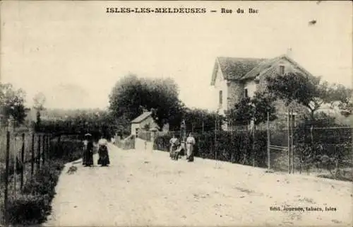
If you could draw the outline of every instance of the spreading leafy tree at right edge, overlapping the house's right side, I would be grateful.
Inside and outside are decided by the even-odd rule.
[[[344,86],[329,86],[320,76],[304,76],[289,73],[268,77],[268,91],[276,98],[285,100],[286,105],[293,101],[304,105],[310,111],[311,120],[324,104],[338,107],[344,115],[352,112],[352,89]]]

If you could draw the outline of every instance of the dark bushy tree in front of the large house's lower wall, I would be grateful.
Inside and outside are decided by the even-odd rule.
[[[270,120],[275,120],[275,98],[270,93],[256,92],[253,98],[245,97],[235,103],[234,107],[226,112],[227,120],[235,124],[250,124],[253,120],[258,125],[267,121],[267,113]]]

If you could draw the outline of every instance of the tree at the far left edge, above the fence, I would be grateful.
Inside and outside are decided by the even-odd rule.
[[[23,124],[27,116],[28,108],[25,107],[25,91],[16,90],[11,83],[0,83],[0,106],[3,117],[3,123],[9,117],[13,117],[16,124]]]

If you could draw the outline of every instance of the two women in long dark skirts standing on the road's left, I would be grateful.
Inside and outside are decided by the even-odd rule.
[[[83,165],[92,166],[93,165],[93,139],[91,134],[85,134],[85,140],[83,141]],[[98,165],[107,166],[110,164],[109,153],[108,153],[108,141],[103,137],[98,141]]]

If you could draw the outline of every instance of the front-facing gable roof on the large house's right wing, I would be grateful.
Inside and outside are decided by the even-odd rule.
[[[288,57],[286,54],[280,55],[279,57],[275,57],[273,59],[268,59],[267,61],[261,62],[260,64],[258,64],[258,66],[254,67],[251,71],[249,71],[249,73],[247,73],[243,78],[241,78],[242,80],[245,79],[252,79],[252,78],[256,78],[256,76],[260,76],[261,72],[265,72],[268,69],[270,69],[273,64],[275,64],[276,62],[279,62],[280,59],[286,59],[288,62],[290,62],[291,64],[293,64],[294,66],[296,66],[299,70],[303,71],[304,74],[306,74],[306,76],[313,76],[311,75],[311,73],[309,73],[309,71],[306,71],[306,69],[304,69],[303,67],[301,67],[297,62],[295,62],[293,59],[291,59],[290,57]]]

